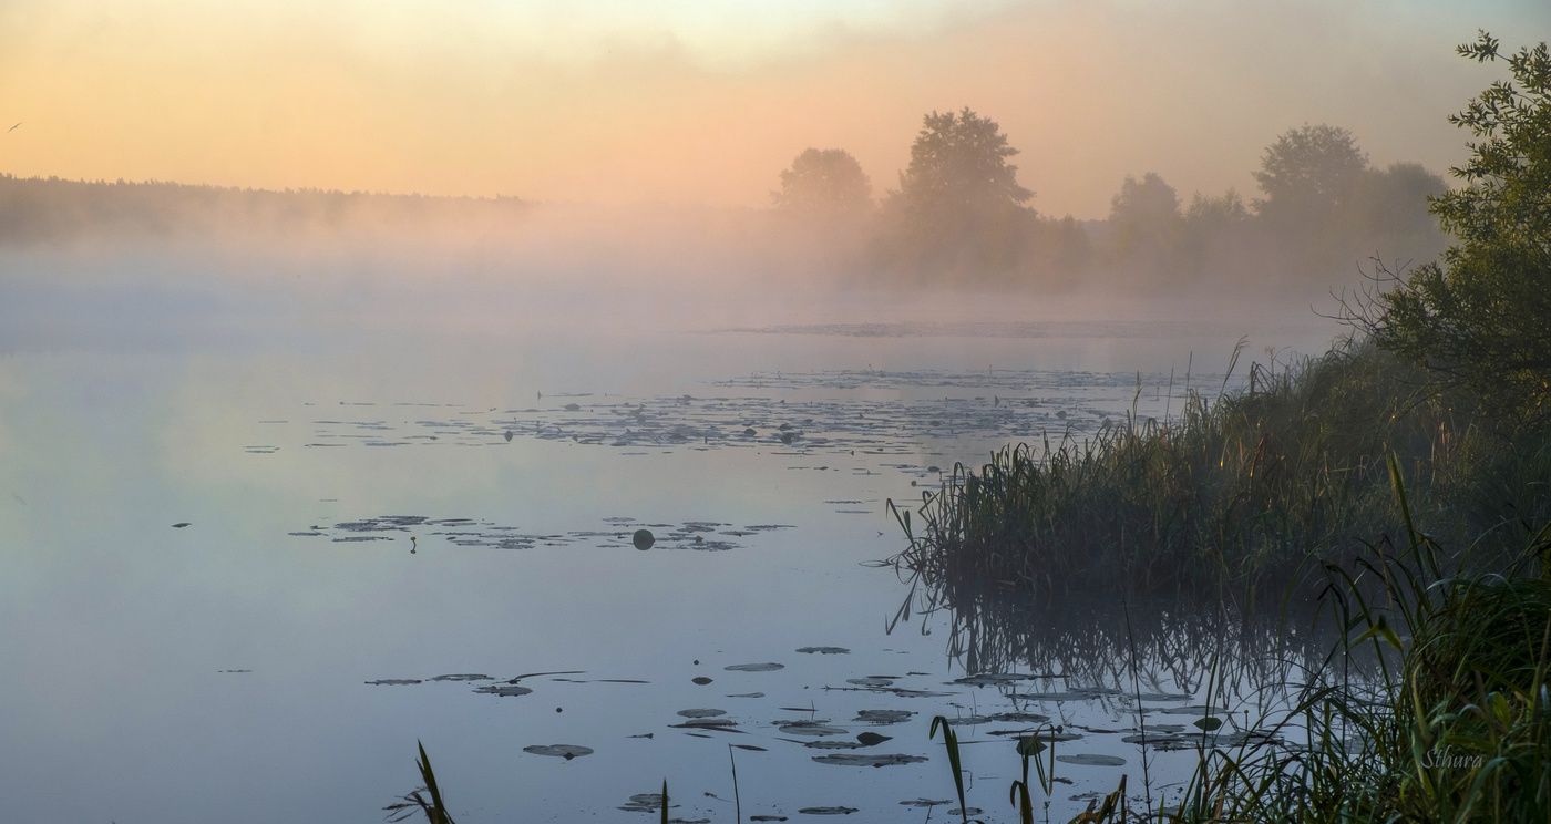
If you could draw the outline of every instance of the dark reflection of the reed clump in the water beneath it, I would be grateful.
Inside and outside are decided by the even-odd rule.
[[[1332,656],[1339,635],[1315,602],[1250,611],[1230,601],[1047,599],[924,573],[910,573],[906,583],[890,630],[912,622],[923,633],[946,630],[946,655],[969,673],[959,683],[994,686],[1016,706],[1087,703],[1118,715],[1140,706],[1142,714],[1196,718],[1225,712],[1235,729],[1247,731],[1280,720],[1303,689],[1370,670],[1362,656]],[[1188,705],[1149,706],[1174,701]]]

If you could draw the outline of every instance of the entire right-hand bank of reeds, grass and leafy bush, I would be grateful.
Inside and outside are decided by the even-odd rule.
[[[1467,186],[1432,199],[1455,244],[1360,301],[1352,337],[1177,417],[955,467],[920,520],[895,509],[895,563],[948,605],[1314,601],[1335,630],[1289,712],[1202,739],[1173,804],[1121,782],[1073,822],[1551,821],[1551,53],[1481,33],[1459,54],[1514,82],[1450,118],[1477,138]]]

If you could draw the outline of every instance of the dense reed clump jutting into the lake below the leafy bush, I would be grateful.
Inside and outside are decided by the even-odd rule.
[[[1551,436],[1504,436],[1470,410],[1371,343],[1256,365],[1247,389],[1190,393],[1165,422],[1132,414],[1083,441],[1005,448],[979,472],[955,466],[924,495],[920,535],[901,514],[898,563],[1035,593],[1227,587],[1253,604],[1294,582],[1307,594],[1320,563],[1397,534],[1391,453],[1424,529],[1453,545],[1484,532],[1486,559],[1518,540],[1504,521],[1551,518]]]

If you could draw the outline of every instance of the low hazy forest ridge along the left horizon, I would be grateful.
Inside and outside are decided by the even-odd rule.
[[[405,223],[499,228],[527,206],[516,197],[267,191],[0,174],[0,244],[231,231],[335,233]]]

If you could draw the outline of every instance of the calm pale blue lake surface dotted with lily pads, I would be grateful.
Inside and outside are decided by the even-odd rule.
[[[968,718],[988,821],[1014,819],[1005,732],[1036,717],[1081,736],[1058,754],[1124,759],[1061,763],[1052,816],[1121,773],[1138,788],[1134,703],[1072,694],[1124,672],[1070,642],[1098,649],[1083,622],[1117,616],[1052,621],[1038,655],[986,635],[1048,618],[923,616],[926,593],[870,563],[903,545],[886,501],[1041,431],[1179,408],[1191,354],[1214,389],[1200,372],[1241,334],[1312,351],[1329,329],[717,327],[14,348],[6,818],[380,821],[419,785],[420,740],[462,822],[655,821],[620,807],[664,779],[675,818],[732,821],[729,745],[744,816],[918,821],[901,802],[954,798],[937,714]],[[1204,660],[1169,644],[1218,632],[1159,615],[1154,712],[1204,689]],[[980,670],[1067,677],[955,683]],[[524,750],[544,745],[592,753]],[[879,754],[909,757],[816,760]],[[1193,757],[1155,753],[1151,781]]]

